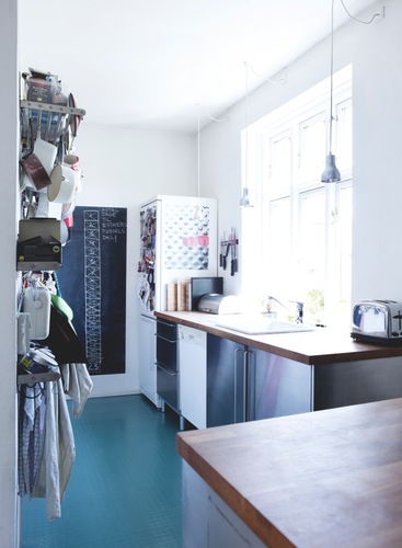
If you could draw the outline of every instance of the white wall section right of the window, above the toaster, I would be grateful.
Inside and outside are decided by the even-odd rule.
[[[402,2],[354,46],[353,296],[402,300]]]

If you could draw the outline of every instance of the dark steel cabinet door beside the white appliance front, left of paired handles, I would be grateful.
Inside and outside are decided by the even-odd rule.
[[[244,350],[228,339],[207,336],[207,426],[245,420]]]

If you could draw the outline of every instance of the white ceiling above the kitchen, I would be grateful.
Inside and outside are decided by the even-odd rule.
[[[353,15],[379,4],[344,3]],[[252,91],[328,36],[331,4],[19,0],[20,68],[58,75],[91,123],[195,133],[198,115],[204,126],[244,96],[246,73]],[[337,27],[348,15],[334,5]]]

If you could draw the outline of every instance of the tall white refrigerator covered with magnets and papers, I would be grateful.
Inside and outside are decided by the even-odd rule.
[[[217,201],[158,195],[141,205],[139,215],[139,383],[159,408],[153,311],[168,309],[172,284],[217,276]]]

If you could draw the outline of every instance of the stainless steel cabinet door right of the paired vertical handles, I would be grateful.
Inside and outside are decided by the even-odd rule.
[[[312,367],[248,349],[249,420],[312,411]]]

